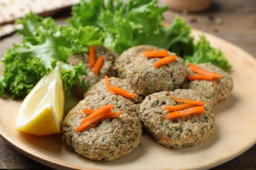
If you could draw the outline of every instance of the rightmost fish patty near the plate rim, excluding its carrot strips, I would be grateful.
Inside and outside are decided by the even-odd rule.
[[[230,96],[234,87],[234,81],[228,73],[211,63],[200,63],[197,66],[207,71],[217,73],[221,75],[222,78],[213,78],[212,80],[186,80],[182,88],[197,90],[201,95],[210,99],[213,105],[221,103],[221,101],[224,101],[224,99]],[[187,70],[188,76],[197,74],[194,73],[190,67],[188,67]]]

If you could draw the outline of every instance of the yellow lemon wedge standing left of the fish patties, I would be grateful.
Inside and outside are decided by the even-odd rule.
[[[14,128],[38,136],[60,133],[63,116],[64,88],[58,62],[53,71],[43,76],[22,101]]]

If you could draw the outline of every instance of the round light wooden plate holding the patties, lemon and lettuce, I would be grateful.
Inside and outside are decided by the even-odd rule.
[[[212,46],[223,50],[234,78],[232,95],[213,108],[216,131],[207,141],[174,150],[143,133],[139,146],[130,154],[109,163],[90,161],[76,154],[61,134],[36,137],[14,130],[20,101],[3,98],[0,99],[1,137],[22,154],[56,169],[209,169],[232,160],[256,143],[256,60],[230,42],[204,34]],[[198,37],[202,31],[193,29],[192,35]],[[73,105],[75,101],[66,105],[66,112]]]

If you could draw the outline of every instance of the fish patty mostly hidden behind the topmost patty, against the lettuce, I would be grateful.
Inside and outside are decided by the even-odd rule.
[[[139,56],[139,54],[142,52],[150,50],[163,50],[163,48],[145,44],[140,46],[133,46],[123,51],[114,63],[114,70],[116,71],[117,76],[119,78],[126,78],[130,63],[135,60],[135,58],[137,58],[137,56]]]

